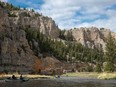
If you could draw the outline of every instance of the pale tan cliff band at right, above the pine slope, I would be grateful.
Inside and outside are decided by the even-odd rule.
[[[96,27],[72,29],[66,31],[64,35],[65,37],[72,36],[73,40],[89,48],[105,49],[105,40],[109,33],[116,38],[116,33],[111,32],[109,29],[98,29]]]

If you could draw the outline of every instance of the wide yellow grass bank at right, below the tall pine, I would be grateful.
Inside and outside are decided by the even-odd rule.
[[[113,73],[77,72],[77,73],[66,73],[66,74],[63,74],[62,76],[96,78],[96,79],[116,79],[116,72],[113,72]]]

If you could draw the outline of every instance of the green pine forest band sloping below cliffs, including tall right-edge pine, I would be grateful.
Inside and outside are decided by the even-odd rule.
[[[116,40],[111,34],[106,39],[106,51],[103,52],[102,49],[88,48],[74,41],[52,39],[31,28],[27,28],[25,31],[31,49],[36,56],[38,56],[38,53],[48,53],[60,61],[84,62],[87,63],[86,71],[115,71]],[[34,42],[38,44],[38,47],[34,45]],[[94,64],[96,67],[93,68],[89,64]]]

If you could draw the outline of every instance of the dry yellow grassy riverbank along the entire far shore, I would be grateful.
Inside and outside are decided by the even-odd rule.
[[[19,74],[14,74],[17,78],[20,77]],[[76,73],[66,73],[61,75],[61,77],[77,77],[77,78],[90,78],[90,79],[116,79],[116,72],[114,73],[96,73],[96,72],[76,72]],[[8,77],[12,77],[12,74],[1,74],[0,80],[4,80]],[[46,79],[53,79],[54,76],[48,75],[30,75],[25,74],[23,75],[24,78],[27,79],[38,79],[38,78],[46,78]]]

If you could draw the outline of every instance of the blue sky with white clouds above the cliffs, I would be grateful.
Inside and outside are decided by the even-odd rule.
[[[116,0],[1,0],[52,17],[60,29],[107,28],[116,32]]]

